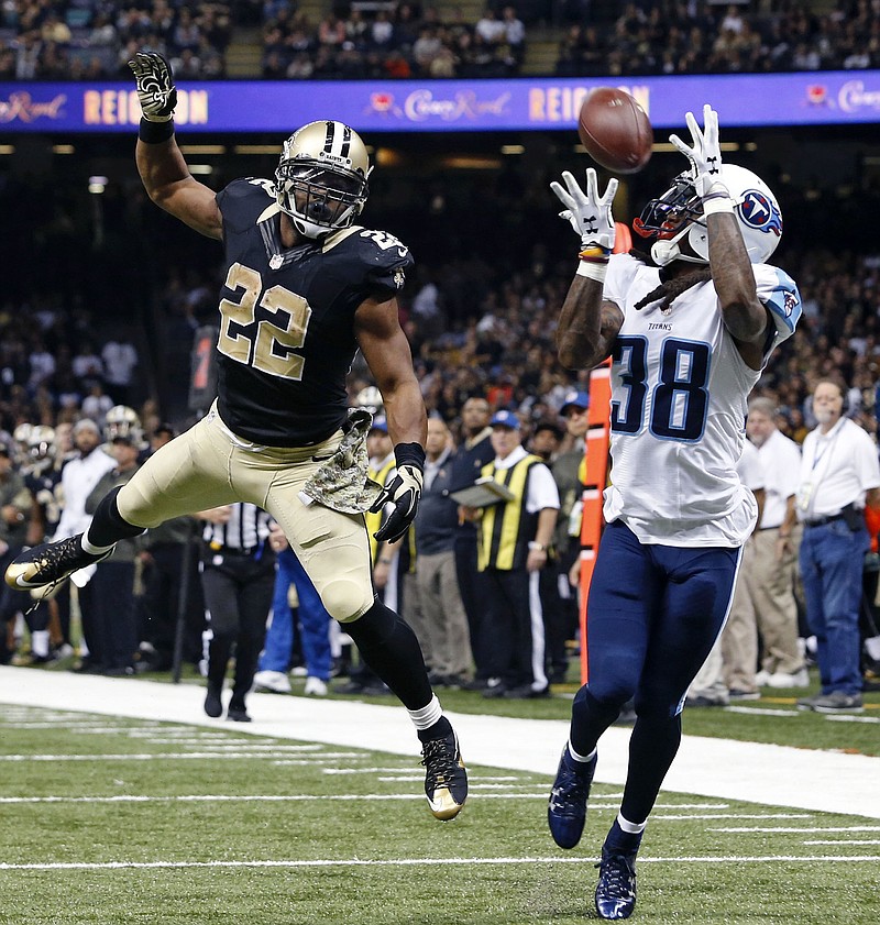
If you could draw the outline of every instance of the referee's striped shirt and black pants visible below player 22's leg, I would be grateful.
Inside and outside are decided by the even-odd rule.
[[[251,690],[266,636],[275,587],[275,553],[268,542],[270,515],[237,502],[198,515],[205,520],[201,586],[208,610],[208,694],[205,712],[220,716],[220,698],[230,656],[235,673],[227,719],[250,723],[244,697]]]

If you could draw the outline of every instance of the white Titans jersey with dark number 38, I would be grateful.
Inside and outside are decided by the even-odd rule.
[[[774,327],[765,359],[790,337],[801,297],[785,273],[755,264],[758,297]],[[711,282],[669,311],[635,305],[660,285],[657,267],[627,254],[608,263],[603,298],[624,323],[612,354],[612,484],[606,521],[620,519],[642,543],[738,547],[755,526],[755,496],[737,474],[747,398],[760,373],[739,355]]]

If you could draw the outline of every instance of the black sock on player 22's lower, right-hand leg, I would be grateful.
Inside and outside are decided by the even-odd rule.
[[[343,628],[363,660],[407,709],[428,705],[431,685],[416,634],[394,610],[376,599],[362,617],[343,624]]]

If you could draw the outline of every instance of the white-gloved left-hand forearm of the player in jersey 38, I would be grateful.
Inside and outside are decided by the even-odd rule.
[[[551,183],[550,188],[564,207],[560,218],[570,222],[581,239],[581,262],[559,315],[557,352],[565,368],[592,370],[610,354],[624,320],[620,309],[602,298],[608,257],[614,249],[612,201],[617,180],[609,180],[602,195],[592,167],[586,172],[585,191],[568,170],[562,179],[564,187]]]

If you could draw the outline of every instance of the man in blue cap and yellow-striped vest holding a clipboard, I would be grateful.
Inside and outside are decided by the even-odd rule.
[[[544,630],[538,590],[559,513],[559,492],[550,470],[522,447],[519,419],[496,411],[491,421],[493,462],[482,475],[505,485],[510,500],[479,511],[479,568],[485,576],[488,671],[496,681],[484,697],[542,697],[550,693],[544,671]]]

